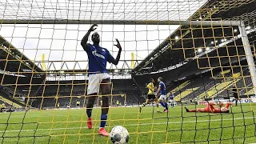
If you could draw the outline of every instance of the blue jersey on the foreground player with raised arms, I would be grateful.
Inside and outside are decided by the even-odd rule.
[[[109,50],[98,45],[87,43],[86,53],[89,60],[89,74],[93,74],[93,72],[107,73],[106,62],[114,62]]]

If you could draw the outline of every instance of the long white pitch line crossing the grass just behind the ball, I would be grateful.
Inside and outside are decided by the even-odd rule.
[[[254,117],[246,117],[246,118],[226,118],[226,119],[212,119],[210,122],[217,122],[217,121],[230,121],[230,120],[241,120],[241,119],[251,119]],[[209,120],[201,120],[201,121],[183,121],[183,122],[168,122],[170,124],[177,124],[177,123],[194,123],[194,122],[209,122]],[[153,123],[153,125],[162,125],[162,124],[167,124],[167,122],[158,122],[158,123]],[[152,125],[152,123],[140,123],[140,124],[130,124],[130,125],[125,125],[125,126],[147,126],[147,125]],[[96,126],[98,128],[98,126]],[[38,129],[36,131],[49,131],[49,130],[76,130],[80,129],[80,127],[71,127],[71,128],[56,128],[56,129]],[[82,129],[88,129],[87,127],[82,127]],[[6,132],[19,132],[20,130],[6,130]],[[35,131],[35,130],[21,130],[22,132],[27,132],[27,131]],[[5,131],[0,131],[0,133],[3,133]]]

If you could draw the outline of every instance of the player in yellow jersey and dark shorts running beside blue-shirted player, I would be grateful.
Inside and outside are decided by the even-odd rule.
[[[144,102],[142,104],[142,106],[140,106],[140,108],[139,108],[140,113],[142,112],[142,107],[146,106],[152,100],[157,101],[157,98],[155,98],[155,95],[154,95],[154,79],[153,78],[150,79],[150,83],[146,86],[146,88],[149,89],[149,92],[147,93],[146,102]],[[158,107],[158,105],[157,105],[157,107]]]

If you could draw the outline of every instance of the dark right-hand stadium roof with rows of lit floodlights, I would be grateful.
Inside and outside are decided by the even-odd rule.
[[[216,0],[211,0],[206,5],[202,6],[200,10],[198,10],[193,16],[191,16],[188,19],[191,20],[210,20],[210,18],[222,18],[223,20],[243,20],[246,25],[253,24],[255,22],[255,16],[256,16],[256,2],[255,1],[216,1]],[[216,19],[216,20],[218,20]],[[191,38],[191,31],[188,30],[190,26],[181,26],[180,29],[184,30],[176,30],[174,33],[170,34],[168,38],[166,38],[159,46],[152,51],[144,60],[139,63],[137,67],[134,68],[135,72],[139,73],[148,73],[149,70],[152,72],[162,70],[168,67],[177,67],[181,66],[181,63],[186,63],[188,60],[184,58],[193,58],[196,56],[195,51],[198,50],[198,48],[206,48],[206,46],[209,46],[209,48],[214,48],[216,46],[225,46],[222,45],[222,38],[216,38],[216,42],[212,43],[215,41],[214,39],[208,39],[206,40],[206,46],[203,45],[204,42],[202,40],[196,40],[195,43],[195,50],[190,49],[190,50],[184,50],[184,49],[179,49],[179,50],[174,50],[176,48],[180,48],[181,46],[181,40],[178,39],[176,40],[175,37],[178,36],[180,38],[180,34],[184,38]],[[238,29],[238,27],[234,27],[234,29]],[[225,32],[226,35],[225,37],[229,38],[230,34],[232,34],[231,29],[226,29],[227,31]],[[254,32],[252,30],[251,32]],[[194,37],[199,37],[200,38],[200,33],[202,32],[200,30],[194,30],[193,34]],[[210,30],[208,31],[208,34],[212,33]],[[207,35],[207,30],[206,33]],[[222,35],[222,32],[216,33]],[[201,36],[202,37],[202,36]],[[255,38],[252,39],[250,37],[250,42],[255,41]],[[170,39],[172,39],[172,44],[170,44]],[[221,43],[222,42],[222,43]],[[192,44],[191,42],[183,42],[184,47],[190,47]],[[215,46],[216,44],[216,46]],[[171,48],[170,48],[171,47]],[[184,51],[183,51],[184,50]],[[216,51],[216,50],[215,50]],[[184,54],[185,53],[185,54]],[[235,51],[233,51],[233,54]]]

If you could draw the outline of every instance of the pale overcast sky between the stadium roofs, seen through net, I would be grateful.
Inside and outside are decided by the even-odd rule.
[[[2,19],[91,19],[91,20],[186,20],[198,10],[206,0],[173,0],[153,2],[138,1],[20,1],[1,2]],[[45,54],[46,61],[83,61],[87,64],[86,52],[80,45],[81,39],[90,25],[14,25],[2,24],[0,34],[33,61]],[[118,48],[113,46],[115,38],[121,42],[123,52],[121,60],[146,58],[178,26],[163,25],[98,25],[101,46],[110,50],[114,57]],[[130,63],[128,63],[130,65]],[[47,65],[47,64],[46,64]],[[74,62],[68,62],[70,69]],[[119,62],[118,67],[122,67]],[[110,66],[110,65],[109,65]],[[52,69],[52,68],[50,68]],[[75,68],[76,69],[76,68]]]

